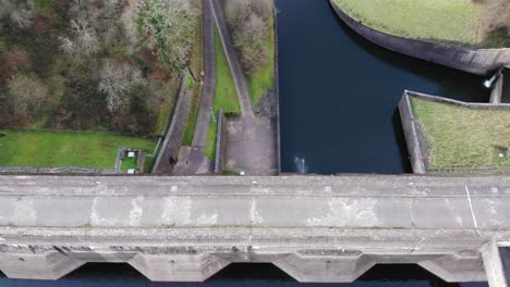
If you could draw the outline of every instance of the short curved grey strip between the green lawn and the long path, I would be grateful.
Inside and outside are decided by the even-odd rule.
[[[158,158],[153,166],[151,173],[171,173],[178,161],[182,140],[186,130],[187,120],[192,110],[192,93],[187,89],[189,73],[183,72],[178,101],[173,111],[172,122],[165,136],[165,141],[159,151]]]

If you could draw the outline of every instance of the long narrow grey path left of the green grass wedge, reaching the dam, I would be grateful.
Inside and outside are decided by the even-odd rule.
[[[215,53],[215,23],[210,1],[203,0],[204,25],[204,87],[201,105],[193,135],[191,148],[182,148],[179,162],[173,171],[174,175],[194,175],[208,173],[209,160],[204,155],[209,133],[212,102],[216,87],[216,53]]]

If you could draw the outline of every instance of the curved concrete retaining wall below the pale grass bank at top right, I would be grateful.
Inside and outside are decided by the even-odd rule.
[[[367,40],[389,50],[478,75],[487,75],[505,64],[510,64],[510,49],[470,50],[453,45],[389,35],[351,18],[333,0],[330,0],[330,3],[348,26]]]

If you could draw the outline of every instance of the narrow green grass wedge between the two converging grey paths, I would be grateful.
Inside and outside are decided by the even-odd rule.
[[[239,103],[238,92],[230,73],[229,63],[221,45],[221,39],[218,30],[215,32],[215,50],[216,50],[216,88],[215,101],[212,104],[212,114],[215,120],[218,120],[218,111],[221,108],[223,113],[231,115],[241,114],[241,104]],[[211,121],[209,124],[209,134],[205,154],[210,160],[216,158],[216,137],[218,134],[218,123]]]

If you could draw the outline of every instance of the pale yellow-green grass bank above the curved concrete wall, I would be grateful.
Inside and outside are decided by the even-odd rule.
[[[375,29],[412,38],[476,45],[483,40],[484,4],[472,0],[335,0]]]

